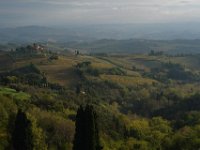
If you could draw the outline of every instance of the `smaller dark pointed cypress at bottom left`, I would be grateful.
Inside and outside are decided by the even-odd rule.
[[[31,131],[31,121],[20,109],[15,120],[15,127],[12,135],[13,148],[15,150],[32,150],[33,134]]]

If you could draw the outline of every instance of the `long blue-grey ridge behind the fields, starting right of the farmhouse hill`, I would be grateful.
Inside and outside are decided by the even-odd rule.
[[[93,42],[69,42],[67,48],[79,49],[88,53],[149,53],[151,50],[166,54],[200,53],[199,40],[98,40]]]

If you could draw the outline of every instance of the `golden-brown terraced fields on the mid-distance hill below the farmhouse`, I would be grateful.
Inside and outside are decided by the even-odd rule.
[[[12,66],[13,60],[10,57],[0,54],[0,68],[5,65]],[[73,86],[80,80],[74,68],[77,63],[90,61],[93,68],[103,70],[118,67],[125,71],[127,75],[100,75],[102,80],[111,80],[124,85],[151,85],[156,80],[143,77],[141,71],[149,72],[152,68],[161,67],[162,63],[173,62],[179,63],[182,66],[189,68],[192,71],[199,72],[200,59],[199,56],[185,56],[185,57],[156,57],[148,55],[113,55],[109,57],[95,57],[88,55],[68,55],[59,56],[58,60],[50,61],[47,57],[19,59],[13,65],[15,68],[34,63],[39,69],[45,73],[48,80],[52,83],[59,83],[63,86]],[[134,69],[134,67],[136,69]],[[8,68],[8,67],[7,67]],[[137,70],[138,69],[138,70]],[[190,89],[188,86],[185,89]],[[186,90],[187,92],[189,90]]]

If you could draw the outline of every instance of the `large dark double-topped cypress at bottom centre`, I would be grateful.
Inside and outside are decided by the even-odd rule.
[[[101,150],[97,115],[93,106],[83,106],[77,111],[73,150]]]

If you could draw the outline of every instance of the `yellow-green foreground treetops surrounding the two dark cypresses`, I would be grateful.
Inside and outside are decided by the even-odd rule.
[[[72,149],[74,132],[77,132],[80,129],[80,127],[83,127],[81,131],[79,130],[79,132],[84,131],[85,134],[83,135],[88,135],[86,134],[86,132],[90,133],[89,135],[91,135],[91,139],[84,138],[86,141],[84,140],[85,142],[83,142],[83,144],[91,143],[90,140],[93,141],[94,139],[96,139],[95,135],[97,135],[97,124],[99,126],[100,139],[98,140],[97,138],[94,141],[101,141],[104,150],[181,150],[183,148],[186,148],[187,150],[192,150],[194,148],[199,148],[199,122],[198,117],[195,117],[196,115],[198,115],[198,113],[191,112],[190,116],[184,118],[185,123],[183,123],[180,128],[175,128],[175,124],[173,122],[176,120],[169,121],[161,117],[154,117],[149,119],[143,117],[135,118],[129,116],[128,114],[124,115],[121,112],[119,112],[120,106],[117,103],[108,105],[105,102],[104,104],[102,102],[100,105],[94,105],[94,109],[96,110],[96,113],[98,115],[97,119],[95,119],[96,117],[93,114],[93,111],[89,108],[87,110],[88,113],[86,113],[86,109],[78,110],[76,119],[77,128],[75,130],[75,113],[73,109],[69,109],[67,108],[67,106],[65,106],[65,100],[62,100],[61,97],[61,99],[58,100],[58,94],[53,93],[51,93],[50,97],[48,97],[47,95],[45,96],[42,93],[38,93],[38,96],[40,97],[40,99],[38,99],[37,105],[35,105],[36,99],[32,101],[32,98],[30,102],[28,101],[28,103],[23,103],[23,105],[26,105],[26,107],[24,108],[26,108],[27,110],[27,115],[25,115],[26,117],[24,118],[29,120],[28,122],[30,123],[28,123],[27,125],[28,134],[30,133],[29,135],[33,136],[32,144],[34,145],[33,147],[35,150]],[[196,95],[193,98],[198,98],[198,95]],[[48,99],[51,101],[51,103],[48,102]],[[54,109],[53,106],[57,105],[56,102],[58,101],[62,102],[62,109]],[[44,107],[45,104],[51,105],[51,107]],[[67,104],[69,105],[70,102],[68,102]],[[190,104],[190,106],[191,105],[192,104]],[[11,135],[13,135],[13,129],[16,128],[16,125],[21,126],[21,123],[19,123],[19,121],[14,121],[17,112],[16,110],[20,107],[21,104],[19,105],[18,103],[16,103],[16,101],[13,100],[10,96],[0,96],[1,149],[5,149],[6,147],[12,146]],[[90,122],[88,125],[84,124],[86,120]],[[22,135],[22,131],[16,131],[20,132],[18,136]],[[78,136],[76,133],[75,141],[77,140],[77,137]],[[74,143],[76,143],[75,141]]]

